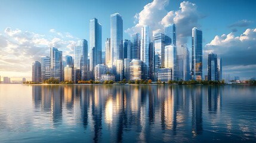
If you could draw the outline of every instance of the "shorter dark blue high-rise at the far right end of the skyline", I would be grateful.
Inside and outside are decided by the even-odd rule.
[[[208,81],[220,81],[221,80],[221,74],[222,74],[222,67],[221,67],[221,58],[218,58],[217,54],[213,54],[210,52],[208,54]]]

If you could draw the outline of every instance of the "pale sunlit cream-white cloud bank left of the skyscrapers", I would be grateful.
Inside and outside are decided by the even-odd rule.
[[[11,29],[7,27],[0,32],[0,71],[1,73],[20,73],[30,75],[33,61],[41,61],[41,57],[50,55],[50,47],[63,51],[63,56],[73,54],[78,38],[70,33],[49,30],[48,36],[38,33]],[[62,36],[61,36],[62,35]]]

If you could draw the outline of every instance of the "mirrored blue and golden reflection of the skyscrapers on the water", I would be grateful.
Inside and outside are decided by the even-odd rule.
[[[208,121],[203,123],[204,105],[209,115],[221,113],[222,90],[215,86],[33,86],[32,99],[35,108],[49,112],[55,127],[73,117],[76,126],[90,130],[94,142],[177,138],[186,142],[208,128]]]

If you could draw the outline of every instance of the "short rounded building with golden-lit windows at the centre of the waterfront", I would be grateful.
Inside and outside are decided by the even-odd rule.
[[[141,80],[141,61],[140,59],[132,59],[130,63],[130,80]]]

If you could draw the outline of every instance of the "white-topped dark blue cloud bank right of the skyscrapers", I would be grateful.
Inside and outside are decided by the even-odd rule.
[[[226,70],[234,74],[255,76],[256,29],[246,29],[240,36],[235,36],[235,33],[217,35],[206,44],[203,55],[206,56],[210,51],[223,58]]]

